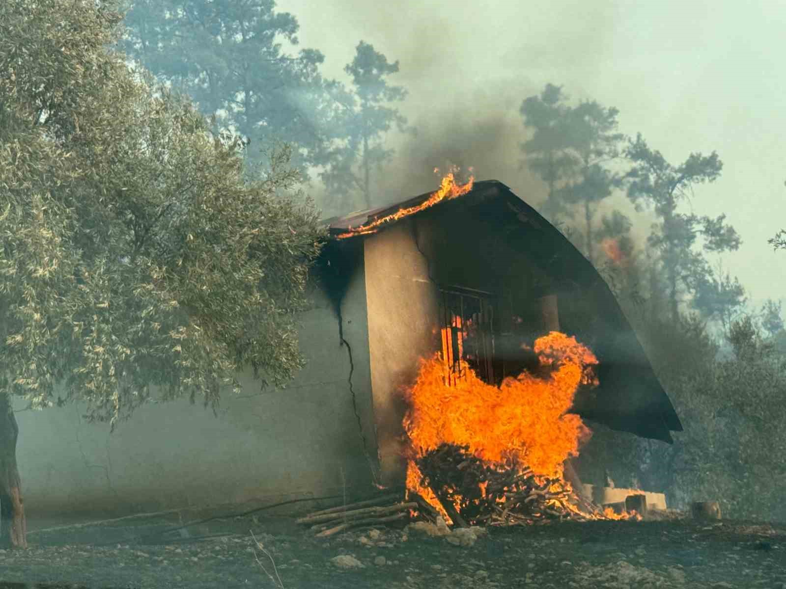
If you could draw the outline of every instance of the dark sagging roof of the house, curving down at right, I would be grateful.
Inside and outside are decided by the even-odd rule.
[[[499,181],[479,181],[472,190],[455,199],[444,199],[432,207],[417,210],[432,193],[407,199],[388,207],[376,207],[332,218],[328,225],[332,240],[358,239],[367,235],[364,227],[383,218],[375,229],[399,222],[395,214],[413,210],[403,218],[428,214],[437,207],[461,200],[472,214],[493,219],[505,245],[526,256],[554,284],[580,291],[591,313],[582,315],[582,324],[564,326],[571,335],[593,334],[593,353],[599,364],[601,384],[592,391],[577,394],[573,412],[582,418],[602,423],[613,430],[671,442],[670,432],[682,431],[674,406],[655,372],[645,350],[630,326],[608,284],[592,263],[553,225]],[[464,238],[466,239],[466,238]],[[586,315],[586,316],[585,316]]]

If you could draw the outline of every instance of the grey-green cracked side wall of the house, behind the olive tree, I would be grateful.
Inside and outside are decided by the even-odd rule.
[[[362,267],[347,276],[336,311],[324,291],[300,317],[307,366],[283,390],[225,395],[219,417],[174,401],[140,408],[114,434],[83,423],[78,405],[20,411],[17,449],[28,518],[68,511],[125,514],[187,505],[279,500],[368,489],[372,476],[358,435],[370,432],[368,324]]]

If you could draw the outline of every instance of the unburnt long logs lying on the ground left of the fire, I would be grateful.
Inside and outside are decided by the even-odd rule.
[[[349,529],[394,525],[402,521],[410,521],[411,512],[417,508],[417,503],[404,500],[402,489],[399,492],[388,492],[373,499],[314,511],[296,521],[300,525],[308,526],[318,538],[324,538],[346,532]]]

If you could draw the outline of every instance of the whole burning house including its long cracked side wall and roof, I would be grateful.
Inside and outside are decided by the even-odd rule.
[[[448,176],[327,222],[300,317],[307,365],[289,386],[239,375],[244,393],[219,419],[173,401],[111,435],[79,408],[20,412],[20,430],[40,432],[18,446],[29,512],[275,502],[372,482],[422,496],[421,469],[433,478],[447,459],[447,477],[479,477],[478,501],[499,499],[530,473],[538,488],[578,485],[568,459],[592,423],[661,441],[681,430],[604,280],[501,182]]]

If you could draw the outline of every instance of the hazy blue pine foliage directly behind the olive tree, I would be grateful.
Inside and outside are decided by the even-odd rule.
[[[213,130],[250,140],[244,158],[260,166],[281,142],[305,171],[324,163],[335,105],[319,68],[325,57],[300,49],[299,24],[270,0],[133,0],[120,46],[160,82],[192,97]]]

